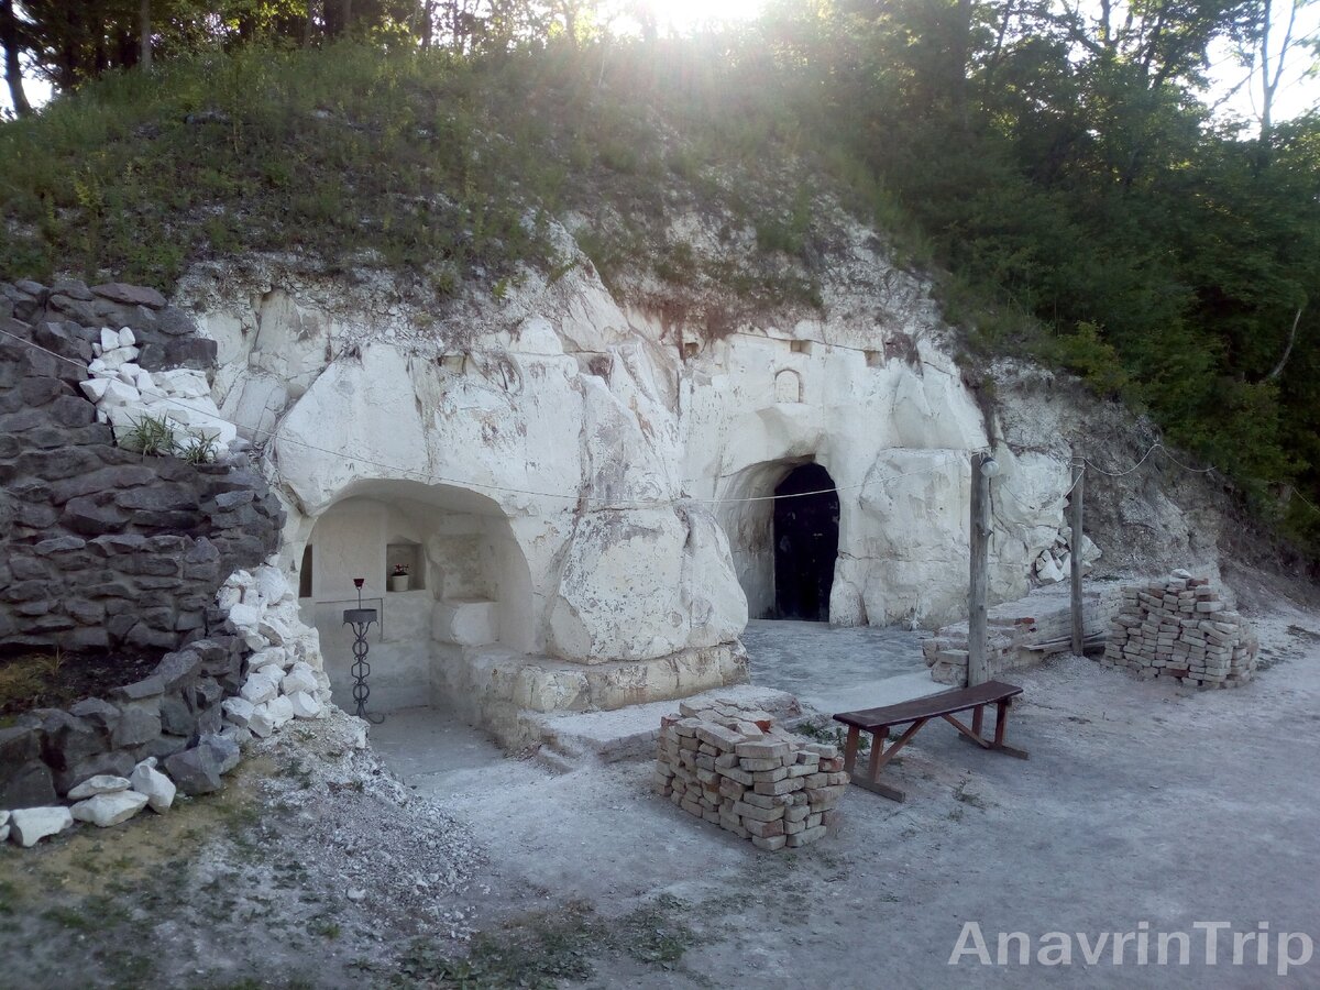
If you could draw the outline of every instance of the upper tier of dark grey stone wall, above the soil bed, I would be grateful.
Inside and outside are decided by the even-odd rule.
[[[215,354],[150,289],[0,284],[4,652],[178,649],[216,620],[220,581],[279,548],[282,511],[244,458],[115,446],[78,388],[107,323],[131,327],[143,367],[205,368]]]

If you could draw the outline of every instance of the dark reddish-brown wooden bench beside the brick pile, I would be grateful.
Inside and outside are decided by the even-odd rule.
[[[1015,688],[1003,681],[986,681],[975,688],[957,688],[954,690],[940,692],[925,698],[904,701],[899,705],[886,705],[884,708],[869,708],[861,711],[845,711],[834,715],[836,722],[847,726],[847,743],[843,747],[843,770],[846,770],[853,783],[874,791],[878,795],[895,801],[903,800],[903,792],[880,783],[880,771],[894,759],[899,750],[907,746],[912,737],[932,718],[942,718],[949,722],[962,738],[974,742],[982,750],[997,750],[1010,756],[1027,759],[1024,750],[1014,748],[1003,741],[1005,729],[1008,725],[1008,705],[1012,698],[1022,694],[1022,688]],[[997,708],[994,739],[987,739],[981,734],[985,721],[986,705]],[[954,715],[960,711],[972,711],[972,726],[968,727]],[[896,725],[911,722],[903,734],[894,743],[884,748],[886,739],[890,738],[890,729]],[[871,758],[867,764],[866,776],[855,772],[857,744],[862,733],[871,734]]]

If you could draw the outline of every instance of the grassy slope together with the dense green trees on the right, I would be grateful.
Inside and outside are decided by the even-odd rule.
[[[615,288],[770,314],[818,305],[828,197],[937,273],[969,354],[1027,354],[1146,409],[1315,549],[1320,119],[1216,120],[1195,25],[1137,58],[1028,25],[1030,4],[978,7],[970,33],[952,7],[867,9],[478,54],[235,45],[112,73],[0,125],[0,277],[168,289],[264,251],[388,271],[442,308],[520,264],[562,271],[548,220],[572,216]],[[673,235],[689,211],[718,218],[723,259]]]

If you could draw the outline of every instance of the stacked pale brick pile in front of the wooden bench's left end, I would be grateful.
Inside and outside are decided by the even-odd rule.
[[[759,710],[684,702],[660,721],[656,789],[758,849],[824,838],[838,818],[847,774],[838,748],[809,743]]]

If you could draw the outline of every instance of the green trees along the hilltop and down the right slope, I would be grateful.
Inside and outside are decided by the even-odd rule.
[[[24,0],[0,4],[0,42],[67,91],[131,70],[144,34],[157,63],[351,36],[474,73],[540,59],[500,77],[528,107],[540,95],[610,114],[602,87],[624,86],[620,128],[642,127],[642,104],[742,121],[726,157],[791,133],[780,144],[820,152],[908,257],[949,273],[942,292],[969,348],[1032,354],[1146,408],[1170,441],[1315,540],[1320,513],[1304,499],[1320,503],[1320,116],[1272,112],[1280,61],[1315,53],[1292,17],[1307,3],[777,0],[741,32],[676,42],[657,38],[647,0]],[[609,36],[620,17],[636,37]],[[1208,106],[1225,53],[1255,74],[1255,121]],[[640,139],[606,139],[586,157],[572,133],[545,140],[569,147],[556,160],[566,169],[639,168]],[[808,227],[789,206],[756,231],[797,249]],[[665,271],[688,267],[675,255]]]

